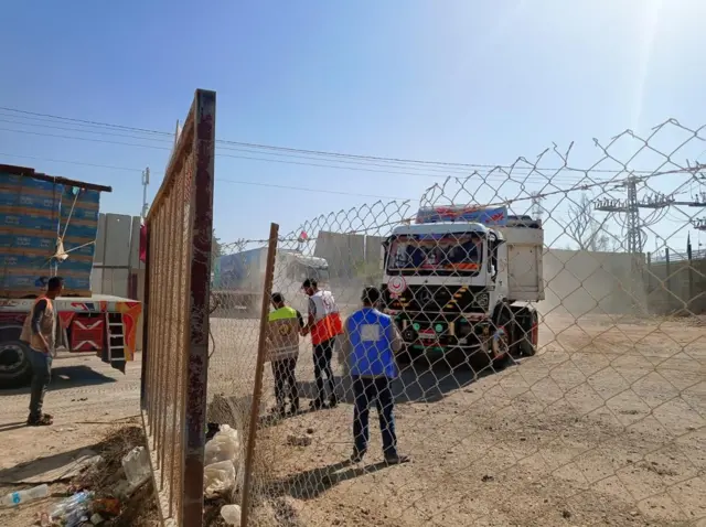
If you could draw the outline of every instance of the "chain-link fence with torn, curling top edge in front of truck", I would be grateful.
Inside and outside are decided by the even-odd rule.
[[[208,420],[240,434],[225,499],[254,445],[247,525],[704,521],[704,267],[655,267],[696,233],[703,166],[684,160],[703,140],[670,120],[596,141],[586,169],[555,147],[280,235],[255,437],[267,240],[224,246]]]

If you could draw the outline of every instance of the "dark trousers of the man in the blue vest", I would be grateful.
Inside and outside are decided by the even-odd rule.
[[[395,399],[387,377],[353,376],[353,395],[355,408],[353,410],[353,440],[355,452],[364,454],[370,440],[368,417],[370,408],[375,400],[379,431],[383,434],[383,453],[386,458],[397,455],[397,434],[395,433]]]

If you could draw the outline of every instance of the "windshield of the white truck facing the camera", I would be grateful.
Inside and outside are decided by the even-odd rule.
[[[391,275],[474,276],[483,264],[483,238],[475,233],[397,236],[389,245]]]

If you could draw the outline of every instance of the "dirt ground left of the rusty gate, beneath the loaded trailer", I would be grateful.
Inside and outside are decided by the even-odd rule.
[[[129,364],[124,376],[95,357],[57,358],[52,375],[44,405],[54,416],[52,427],[24,426],[28,389],[0,391],[0,493],[50,485],[46,499],[0,509],[2,526],[39,525],[39,515],[66,496],[73,460],[96,449],[116,428],[140,422],[138,364]]]

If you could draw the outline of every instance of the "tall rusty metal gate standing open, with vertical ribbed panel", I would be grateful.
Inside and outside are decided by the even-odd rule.
[[[147,217],[141,406],[164,525],[203,515],[214,144],[215,93],[196,90]]]

